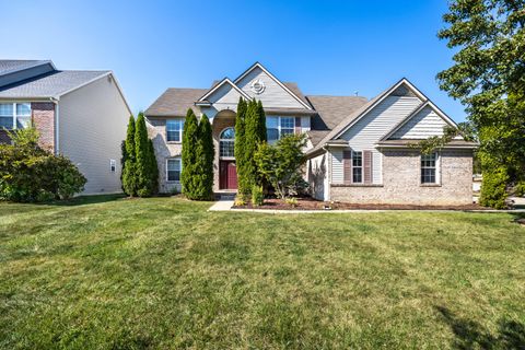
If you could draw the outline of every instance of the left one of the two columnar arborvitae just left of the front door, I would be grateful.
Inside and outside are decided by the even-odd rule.
[[[197,192],[199,179],[197,171],[197,142],[199,137],[199,125],[191,108],[186,114],[183,131],[183,173],[180,183],[183,192],[189,199],[194,199]]]

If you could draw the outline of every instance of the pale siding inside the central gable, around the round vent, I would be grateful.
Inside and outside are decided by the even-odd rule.
[[[257,79],[260,79],[266,86],[265,91],[259,95],[252,91],[252,82]],[[295,97],[258,67],[241,79],[237,82],[237,86],[246,92],[248,96],[260,100],[266,108],[305,108]]]

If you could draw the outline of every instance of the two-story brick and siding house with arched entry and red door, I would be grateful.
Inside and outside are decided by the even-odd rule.
[[[206,114],[215,145],[214,190],[235,190],[235,109],[238,98],[262,102],[268,142],[305,132],[305,178],[322,200],[355,203],[471,203],[472,151],[456,137],[424,155],[419,140],[443,135],[455,122],[408,80],[368,101],[361,96],[304,95],[256,62],[236,79],[208,89],[167,89],[147,110],[155,147],[160,190],[180,190],[185,115]]]

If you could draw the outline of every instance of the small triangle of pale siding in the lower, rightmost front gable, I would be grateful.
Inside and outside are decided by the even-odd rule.
[[[443,128],[446,126],[432,108],[424,107],[410,120],[402,125],[390,139],[427,139],[433,136],[443,136]]]

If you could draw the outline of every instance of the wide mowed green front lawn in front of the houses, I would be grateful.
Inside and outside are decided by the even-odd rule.
[[[525,347],[511,214],[0,205],[2,349]]]

